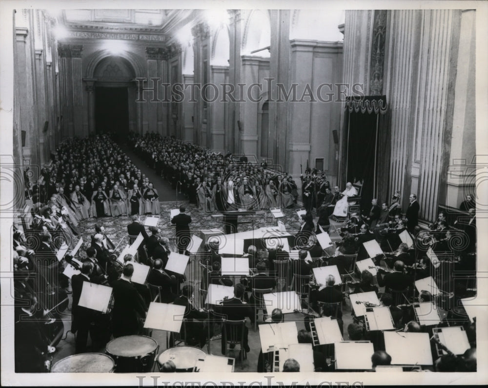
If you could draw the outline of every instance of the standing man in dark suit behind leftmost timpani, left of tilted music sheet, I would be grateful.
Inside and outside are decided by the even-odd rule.
[[[88,333],[93,342],[92,322],[94,320],[93,310],[90,308],[78,306],[80,302],[81,290],[83,283],[91,283],[90,274],[94,268],[93,263],[85,261],[81,266],[81,274],[73,275],[71,278],[71,287],[73,288],[73,305],[71,311],[73,314],[73,324],[71,331],[77,333],[75,343],[75,353],[84,353],[86,351],[86,341],[88,340]]]

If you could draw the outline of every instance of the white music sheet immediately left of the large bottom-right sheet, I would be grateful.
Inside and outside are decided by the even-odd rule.
[[[364,369],[372,368],[371,356],[374,347],[371,342],[345,341],[334,344],[336,369]]]

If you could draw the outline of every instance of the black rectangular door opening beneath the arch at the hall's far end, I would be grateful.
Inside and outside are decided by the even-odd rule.
[[[127,87],[100,87],[95,91],[97,133],[115,132],[119,139],[129,133],[129,96]]]

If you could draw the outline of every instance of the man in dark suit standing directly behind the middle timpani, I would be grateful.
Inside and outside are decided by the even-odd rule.
[[[114,307],[112,309],[114,337],[137,335],[139,333],[138,315],[146,316],[146,306],[136,287],[130,282],[134,266],[126,264],[122,277],[112,283]]]

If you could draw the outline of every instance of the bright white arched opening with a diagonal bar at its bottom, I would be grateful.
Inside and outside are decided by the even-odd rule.
[[[253,10],[246,20],[241,47],[242,55],[254,55],[256,57],[269,57],[269,50],[257,50],[271,44],[271,22],[269,13],[263,10]]]

